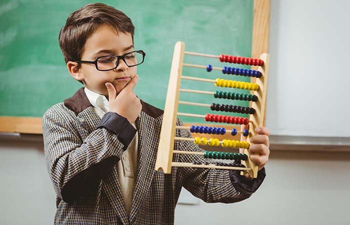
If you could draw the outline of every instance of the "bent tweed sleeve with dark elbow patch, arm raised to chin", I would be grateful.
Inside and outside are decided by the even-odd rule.
[[[136,130],[126,118],[106,113],[84,140],[75,117],[64,109],[48,109],[42,117],[44,152],[56,194],[73,202],[94,188],[119,160]]]

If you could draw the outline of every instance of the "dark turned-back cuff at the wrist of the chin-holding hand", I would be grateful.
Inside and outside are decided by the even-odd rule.
[[[126,150],[136,133],[135,127],[125,117],[111,111],[103,115],[97,129],[101,127],[118,136],[124,145],[123,150]]]

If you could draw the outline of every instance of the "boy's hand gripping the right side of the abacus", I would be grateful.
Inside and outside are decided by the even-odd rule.
[[[248,125],[241,125],[241,130],[248,129]],[[254,162],[258,166],[258,170],[260,170],[268,161],[268,155],[270,154],[269,150],[269,138],[270,130],[264,126],[255,128],[256,135],[250,137],[250,160]],[[243,135],[240,136],[241,140],[245,140]],[[239,152],[243,152],[242,148],[239,148]],[[258,153],[255,155],[254,153]]]

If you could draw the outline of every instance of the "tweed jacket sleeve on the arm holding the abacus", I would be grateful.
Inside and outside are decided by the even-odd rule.
[[[178,125],[182,125],[180,120]],[[177,136],[189,137],[192,135],[188,130],[177,131]],[[178,150],[203,152],[192,141],[178,141]],[[181,162],[199,161],[205,162],[201,155],[179,154]],[[205,202],[232,203],[248,198],[262,183],[265,177],[265,169],[258,172],[258,177],[252,180],[246,179],[237,170],[213,169],[213,168],[178,168],[182,177],[182,186],[194,196]]]

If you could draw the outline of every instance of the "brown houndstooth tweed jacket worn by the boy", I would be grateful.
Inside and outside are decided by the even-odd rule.
[[[173,224],[182,186],[205,202],[224,203],[243,200],[259,187],[264,169],[253,180],[233,170],[173,167],[171,174],[155,171],[163,111],[141,104],[135,121],[139,138],[129,216],[116,172],[116,162],[127,144],[120,139],[122,129],[118,134],[100,125],[83,88],[44,113],[46,166],[57,195],[55,224]],[[177,125],[182,125],[179,119]],[[181,129],[176,136],[191,134]],[[175,141],[174,149],[203,151],[189,141]],[[193,160],[204,161],[196,155],[173,156],[173,161]]]

